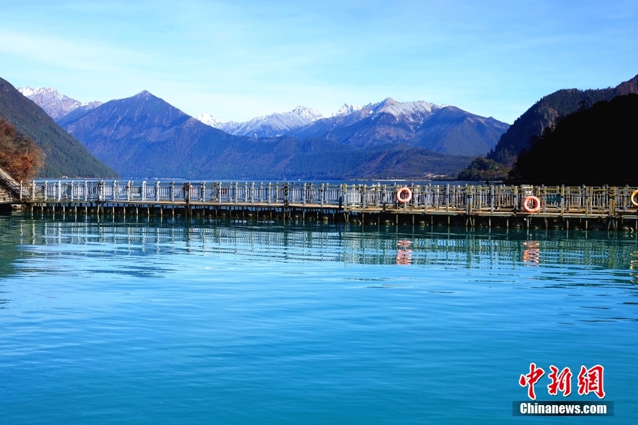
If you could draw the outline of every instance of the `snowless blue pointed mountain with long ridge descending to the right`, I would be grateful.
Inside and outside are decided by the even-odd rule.
[[[127,177],[341,179],[455,173],[471,161],[407,144],[361,149],[337,141],[228,134],[151,93],[108,101],[64,124]]]

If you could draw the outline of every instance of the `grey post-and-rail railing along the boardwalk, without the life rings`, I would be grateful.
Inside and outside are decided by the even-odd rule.
[[[412,199],[397,202],[395,184],[264,182],[166,182],[33,180],[19,184],[24,204],[117,204],[152,206],[246,206],[322,208],[352,213],[525,215],[523,199],[538,197],[539,217],[637,218],[636,188],[590,186],[407,185]]]

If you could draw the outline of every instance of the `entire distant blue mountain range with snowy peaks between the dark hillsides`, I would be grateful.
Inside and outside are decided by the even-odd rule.
[[[23,93],[126,177],[424,178],[453,175],[508,125],[424,101],[298,106],[238,123],[193,119],[147,91],[82,104],[52,88]]]

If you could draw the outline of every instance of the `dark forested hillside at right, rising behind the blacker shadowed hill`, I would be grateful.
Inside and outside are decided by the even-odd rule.
[[[638,93],[638,75],[615,88],[558,90],[537,101],[514,121],[487,157],[510,166],[521,150],[530,147],[532,137],[541,136],[545,127],[554,124],[556,118],[589,108],[598,101],[610,101],[628,93]]]

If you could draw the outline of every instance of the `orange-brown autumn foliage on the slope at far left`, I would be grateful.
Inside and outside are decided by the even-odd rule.
[[[44,165],[44,153],[34,141],[0,117],[0,168],[17,181],[34,178]]]

